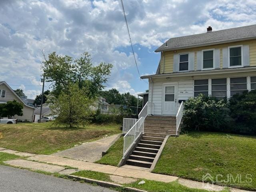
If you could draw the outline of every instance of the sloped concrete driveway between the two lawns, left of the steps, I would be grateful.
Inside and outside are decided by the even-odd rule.
[[[76,160],[95,162],[100,160],[102,152],[106,152],[121,134],[106,137],[94,142],[89,142],[64,151],[52,154],[53,156],[66,157]]]

